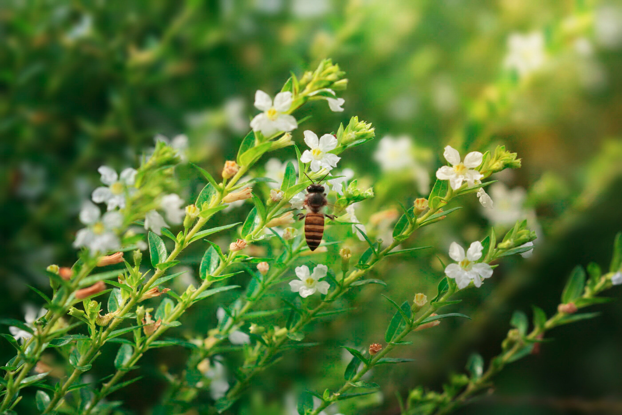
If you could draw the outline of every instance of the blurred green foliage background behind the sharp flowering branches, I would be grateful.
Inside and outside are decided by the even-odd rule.
[[[534,31],[547,39],[545,63],[528,79],[513,79],[503,66],[508,37]],[[482,212],[475,197],[461,200],[464,209],[405,243],[434,249],[391,257],[376,269],[371,277],[381,277],[388,287],[364,286],[348,294],[335,307],[356,310],[310,328],[307,339],[322,345],[288,353],[276,370],[254,380],[234,411],[292,413],[292,397],[301,388],[339,386],[347,362],[338,346],[365,347],[383,338],[392,311],[380,292],[398,302],[416,292],[434,296],[442,276],[435,255],[445,259],[451,241],[481,239],[490,225],[498,226],[499,235],[507,228],[503,212],[527,215],[539,232],[531,259],[505,261],[485,286],[452,306],[472,321],[443,320],[413,338],[401,357],[417,361],[382,366],[372,375],[382,393],[340,408],[344,414],[399,413],[396,392],[406,396],[417,385],[439,389],[471,352],[485,358],[498,353],[514,309],[531,312],[531,304],[538,304],[553,312],[576,264],[608,266],[613,236],[622,230],[621,52],[620,2],[4,0],[0,314],[21,319],[24,304],[40,305],[25,284],[45,289],[47,265],[75,261],[77,213],[98,185],[99,166],[135,166],[156,134],[187,134],[188,159],[216,173],[248,131],[256,113],[254,91],[272,95],[289,71],[300,75],[330,57],[350,80],[341,95],[345,111],[332,113],[323,101],[313,101],[297,114],[313,116],[294,139],[302,142],[302,129],[335,131],[350,116],[373,123],[376,141],[340,162],[360,182],[374,185],[376,198],[357,207],[371,234],[386,231],[397,200],[412,203],[423,193],[421,172],[432,179],[448,142],[462,151],[505,144],[518,152],[522,169],[494,177],[515,190],[516,199],[503,207],[499,200],[509,197],[504,189],[498,187],[497,198],[491,193],[501,217]],[[384,136],[407,137],[416,168],[383,170],[374,152]],[[292,159],[294,151],[282,149],[274,157]],[[265,162],[258,166],[263,169]],[[188,166],[177,173],[185,189],[180,195],[192,201],[202,180]],[[521,194],[519,188],[527,190]],[[249,208],[243,205],[220,220],[237,221]],[[385,210],[384,216],[372,216]],[[337,230],[327,235],[334,239]],[[230,237],[216,241],[228,243]],[[363,249],[354,239],[347,243]],[[186,253],[183,265],[196,269],[202,249]],[[312,259],[330,263],[336,250]],[[287,291],[282,287],[262,307],[279,307],[278,297]],[[618,287],[610,295],[621,294]],[[228,304],[232,296],[218,301]],[[205,335],[216,322],[217,306],[213,301],[190,310],[176,329],[179,335]],[[555,330],[555,342],[509,366],[493,395],[458,413],[622,413],[622,305],[600,309],[598,319]],[[111,373],[115,352],[104,348],[91,371],[95,377],[85,381]],[[1,343],[0,360],[11,353]],[[50,361],[59,360],[50,353]],[[186,353],[149,352],[139,370],[146,378],[111,399],[125,401],[128,413],[149,413],[166,387],[162,371],[179,372]],[[225,360],[232,366],[240,361],[234,353]],[[201,399],[208,402],[200,396],[189,413],[200,413]],[[19,413],[34,413],[27,399],[20,405]]]

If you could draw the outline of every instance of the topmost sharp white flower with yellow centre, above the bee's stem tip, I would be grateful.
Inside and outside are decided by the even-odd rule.
[[[271,137],[279,131],[293,131],[298,127],[296,119],[287,114],[292,106],[292,93],[279,92],[274,97],[274,103],[267,93],[257,91],[255,93],[255,107],[264,111],[257,114],[251,121],[253,131],[261,131],[266,137]]]

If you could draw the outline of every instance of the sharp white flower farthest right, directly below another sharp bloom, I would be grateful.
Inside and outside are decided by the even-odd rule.
[[[455,242],[452,242],[452,245],[449,246],[449,256],[454,261],[457,261],[457,264],[449,264],[445,268],[445,275],[454,278],[458,288],[463,289],[468,286],[471,279],[476,287],[480,287],[482,278],[490,278],[493,275],[493,269],[490,265],[475,263],[475,261],[481,258],[482,249],[484,247],[481,246],[480,241],[475,241],[471,243],[465,256],[465,250],[462,246]]]

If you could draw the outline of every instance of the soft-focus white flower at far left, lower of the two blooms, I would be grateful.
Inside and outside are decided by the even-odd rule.
[[[114,232],[123,225],[123,215],[118,211],[107,212],[100,218],[100,208],[86,201],[80,211],[80,221],[88,227],[76,234],[74,248],[85,246],[91,253],[106,253],[119,249],[121,243]]]

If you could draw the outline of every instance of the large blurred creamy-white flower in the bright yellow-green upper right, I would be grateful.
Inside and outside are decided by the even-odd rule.
[[[544,64],[544,36],[541,32],[511,34],[508,38],[508,49],[504,65],[516,70],[521,77],[529,75]]]

